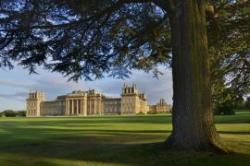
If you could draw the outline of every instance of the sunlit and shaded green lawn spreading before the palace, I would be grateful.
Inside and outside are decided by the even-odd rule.
[[[170,115],[0,118],[0,166],[250,165],[250,111],[217,116],[216,127],[237,154],[170,151]]]

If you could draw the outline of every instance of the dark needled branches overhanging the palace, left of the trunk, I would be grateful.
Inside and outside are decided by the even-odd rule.
[[[3,0],[0,8],[0,66],[14,60],[91,80],[170,61],[168,17],[154,3]]]

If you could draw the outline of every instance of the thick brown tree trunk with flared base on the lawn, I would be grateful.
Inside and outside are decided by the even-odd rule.
[[[211,108],[204,1],[177,0],[170,17],[174,96],[167,142],[181,149],[222,149]]]

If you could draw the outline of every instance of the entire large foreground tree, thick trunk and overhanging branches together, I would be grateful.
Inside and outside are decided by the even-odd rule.
[[[167,143],[223,150],[210,102],[210,77],[217,70],[210,73],[209,61],[222,73],[227,70],[219,66],[227,61],[231,73],[247,72],[241,67],[249,62],[247,7],[246,0],[2,0],[0,64],[18,61],[30,72],[43,65],[73,80],[91,80],[124,78],[131,69],[157,74],[155,66],[171,63],[173,133]],[[236,78],[233,84],[249,81],[241,74],[230,78]]]

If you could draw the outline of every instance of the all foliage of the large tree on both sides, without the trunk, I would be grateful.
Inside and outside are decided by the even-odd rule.
[[[128,76],[133,68],[159,73],[155,66],[171,62],[166,10],[174,5],[165,0],[3,0],[0,66],[11,67],[14,60],[35,72],[44,65],[75,80],[105,73]],[[207,21],[214,72],[249,82],[249,2],[215,0],[211,5],[215,12]]]

